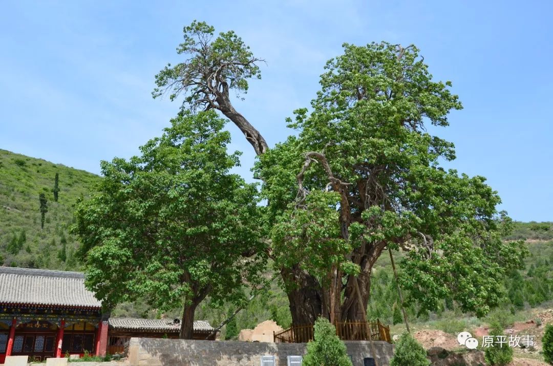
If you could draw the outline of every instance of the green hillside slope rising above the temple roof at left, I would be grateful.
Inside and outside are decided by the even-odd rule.
[[[58,202],[54,179],[59,174]],[[78,270],[75,238],[68,232],[77,198],[86,196],[100,176],[0,149],[0,264]],[[39,194],[48,212],[40,228]],[[63,247],[65,242],[65,255]]]

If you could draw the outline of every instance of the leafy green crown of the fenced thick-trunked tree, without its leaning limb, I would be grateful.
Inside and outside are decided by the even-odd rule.
[[[323,288],[336,283],[347,301],[349,279],[370,275],[373,255],[409,243],[399,279],[408,305],[423,313],[451,299],[485,315],[504,297],[506,271],[521,268],[528,251],[502,240],[512,224],[484,177],[440,166],[455,159],[453,144],[425,125],[446,127],[448,113],[462,108],[451,83],[433,80],[413,45],[343,48],[325,66],[312,112],[289,119],[298,137],[256,166],[276,264],[299,266]],[[349,289],[332,271],[349,275]]]

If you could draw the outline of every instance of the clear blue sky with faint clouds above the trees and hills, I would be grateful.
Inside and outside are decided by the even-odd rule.
[[[465,106],[432,130],[456,145],[448,167],[486,176],[514,219],[553,221],[552,13],[545,0],[4,1],[0,148],[96,173],[137,154],[178,110],[150,92],[194,19],[235,30],[267,60],[236,108],[270,145],[343,42],[414,43]],[[229,129],[249,179],[252,148]]]

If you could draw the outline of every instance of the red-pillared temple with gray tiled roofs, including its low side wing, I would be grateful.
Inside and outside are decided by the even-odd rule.
[[[0,364],[7,355],[114,354],[130,337],[178,338],[179,329],[178,320],[109,318],[82,273],[0,266]],[[194,322],[195,339],[211,333]]]

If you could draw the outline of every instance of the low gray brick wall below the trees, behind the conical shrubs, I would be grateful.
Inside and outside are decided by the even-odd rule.
[[[363,366],[371,357],[369,342],[345,342],[353,366]],[[129,366],[259,366],[262,355],[276,356],[276,365],[286,366],[288,355],[305,353],[305,343],[263,343],[234,341],[195,341],[184,339],[131,338]],[[379,366],[388,366],[392,344],[375,341]]]

